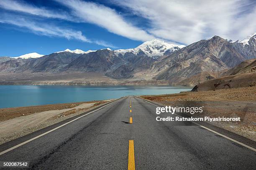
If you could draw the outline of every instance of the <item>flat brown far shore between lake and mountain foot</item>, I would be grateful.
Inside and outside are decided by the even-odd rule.
[[[28,72],[26,75],[19,72],[1,73],[0,85],[179,85],[172,80],[154,80],[152,77],[114,79],[97,72]]]

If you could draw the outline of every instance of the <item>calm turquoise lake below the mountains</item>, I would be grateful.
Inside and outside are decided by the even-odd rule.
[[[0,108],[160,95],[191,90],[172,86],[0,85]]]

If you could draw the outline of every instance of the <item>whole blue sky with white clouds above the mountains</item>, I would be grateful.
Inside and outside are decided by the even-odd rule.
[[[0,56],[238,40],[256,32],[255,18],[253,0],[0,0]]]

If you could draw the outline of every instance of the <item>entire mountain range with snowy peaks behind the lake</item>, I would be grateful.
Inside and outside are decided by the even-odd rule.
[[[245,60],[256,58],[256,33],[237,41],[213,36],[187,46],[151,40],[133,49],[107,48],[86,52],[67,49],[43,56],[31,54],[0,57],[0,72],[9,77],[98,73],[119,84],[197,85],[217,78]]]

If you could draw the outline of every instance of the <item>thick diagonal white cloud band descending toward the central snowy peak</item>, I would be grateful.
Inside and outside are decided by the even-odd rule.
[[[117,35],[141,41],[152,40],[155,38],[155,36],[148,34],[145,30],[137,28],[125,21],[118,12],[110,7],[81,0],[56,1],[71,8],[73,15],[83,22],[98,25]]]

